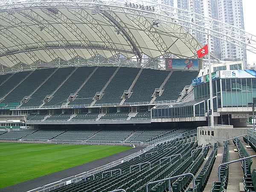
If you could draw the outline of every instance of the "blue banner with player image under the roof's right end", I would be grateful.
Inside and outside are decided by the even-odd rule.
[[[201,69],[202,61],[199,59],[166,58],[166,70],[195,70]]]

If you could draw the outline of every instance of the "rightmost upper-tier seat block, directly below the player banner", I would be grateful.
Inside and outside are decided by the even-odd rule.
[[[198,76],[198,71],[174,71],[166,84],[161,96],[156,101],[176,100],[186,85],[190,85],[192,80]]]

